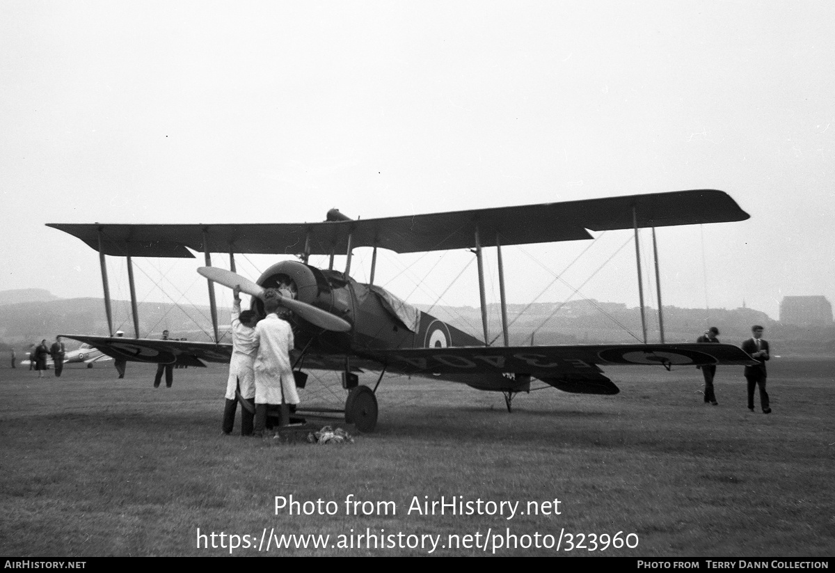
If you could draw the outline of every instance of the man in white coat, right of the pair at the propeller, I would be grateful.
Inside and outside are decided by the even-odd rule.
[[[268,289],[264,296],[266,317],[258,322],[255,337],[258,344],[256,355],[256,428],[259,435],[266,429],[268,404],[297,404],[299,394],[293,378],[290,352],[295,344],[290,323],[278,317],[281,310],[279,296]],[[284,417],[281,423],[288,423],[288,408],[281,408]]]

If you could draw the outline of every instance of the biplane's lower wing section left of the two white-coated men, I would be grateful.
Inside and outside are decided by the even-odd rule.
[[[204,361],[228,363],[232,356],[231,344],[215,344],[215,342],[93,337],[81,334],[62,334],[61,336],[87,342],[109,357],[132,362],[205,366]]]

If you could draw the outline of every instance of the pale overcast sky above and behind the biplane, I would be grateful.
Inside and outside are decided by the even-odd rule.
[[[777,318],[783,296],[835,302],[833,29],[827,1],[0,0],[0,290],[102,296],[98,253],[48,222],[368,219],[712,188],[751,219],[660,229],[665,304]],[[590,241],[505,247],[509,302],[637,306],[630,240],[605,233],[552,287]],[[364,281],[370,250],[355,256]],[[388,252],[377,282],[477,306],[476,266],[453,282],[472,259]],[[274,261],[237,260],[251,278]],[[494,277],[493,249],[486,261]],[[140,300],[207,302],[202,256],[135,263]],[[129,297],[124,261],[108,264],[112,295]]]

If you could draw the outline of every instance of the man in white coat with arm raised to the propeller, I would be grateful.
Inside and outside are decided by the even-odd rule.
[[[232,358],[229,361],[229,378],[226,379],[226,405],[223,411],[223,433],[231,434],[235,425],[235,409],[238,400],[235,390],[245,399],[249,408],[241,404],[240,435],[252,435],[252,418],[256,409],[256,378],[252,370],[258,352],[256,342],[256,314],[240,312],[240,287],[232,290],[235,302],[232,304]]]

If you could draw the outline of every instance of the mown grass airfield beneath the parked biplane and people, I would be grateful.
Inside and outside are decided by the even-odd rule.
[[[606,371],[620,395],[549,388],[518,396],[513,414],[500,394],[387,378],[377,432],[320,446],[221,435],[220,366],[175,370],[174,388],[157,389],[154,367],[134,363],[124,380],[107,364],[43,380],[0,369],[0,555],[229,555],[230,534],[233,555],[427,555],[433,540],[432,555],[491,555],[499,540],[497,555],[835,555],[835,359],[772,359],[770,415],[746,409],[741,368],[719,368],[718,407],[702,403],[695,368]],[[307,403],[343,399],[308,387]],[[276,515],[276,496],[290,495],[332,501],[321,510],[335,515]],[[372,504],[347,515],[349,495]],[[441,496],[519,505],[512,519],[508,505],[408,512]],[[637,547],[602,550],[618,532]],[[270,537],[259,553],[271,533],[330,538],[276,550]]]

